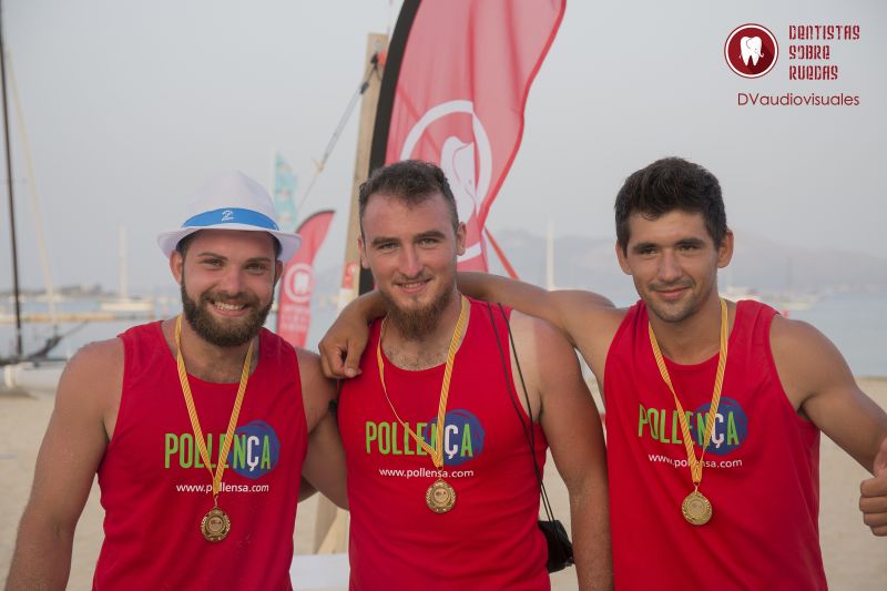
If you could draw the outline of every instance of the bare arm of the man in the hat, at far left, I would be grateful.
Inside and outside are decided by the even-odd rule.
[[[120,339],[88,345],[62,373],[19,524],[8,591],[68,583],[74,528],[116,421],[122,383]]]

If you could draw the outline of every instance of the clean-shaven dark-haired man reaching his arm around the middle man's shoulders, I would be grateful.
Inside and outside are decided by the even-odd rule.
[[[859,506],[887,536],[887,415],[818,330],[718,296],[733,233],[711,173],[654,162],[629,176],[615,212],[616,257],[641,297],[628,309],[483,274],[460,274],[459,287],[546,318],[597,376],[616,587],[825,589],[819,432],[873,472]],[[354,375],[357,317],[378,313],[376,299],[322,342],[332,375]]]

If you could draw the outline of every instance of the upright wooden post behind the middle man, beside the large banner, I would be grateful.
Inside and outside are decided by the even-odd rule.
[[[388,48],[388,37],[370,33],[367,38],[367,72],[376,68],[368,78],[368,88],[360,102],[360,124],[357,132],[357,155],[355,157],[354,177],[351,179],[351,207],[348,214],[348,233],[345,236],[345,264],[341,272],[338,309],[341,310],[357,297],[360,277],[360,255],[357,237],[360,235],[358,218],[357,192],[360,183],[369,176],[369,149],[373,142],[373,129],[376,121],[376,106],[381,88],[383,61],[378,59]],[[375,65],[374,65],[375,62]],[[317,517],[314,528],[314,551],[316,553],[344,552],[346,550],[346,532],[348,518],[346,511],[338,509],[327,498],[317,502]]]

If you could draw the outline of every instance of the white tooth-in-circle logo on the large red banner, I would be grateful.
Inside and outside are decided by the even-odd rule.
[[[440,146],[438,162],[447,175],[447,180],[456,196],[456,208],[459,221],[463,222],[467,230],[466,252],[459,262],[476,258],[482,254],[481,225],[478,220],[480,206],[487,197],[492,174],[492,150],[490,140],[483,124],[475,113],[471,101],[448,101],[428,110],[410,130],[400,151],[400,160],[416,157],[416,146],[424,140],[424,135],[434,126],[459,129],[459,119],[470,121],[470,134],[458,136],[455,133],[446,135]],[[467,126],[467,122],[463,123]],[[439,131],[439,130],[438,130]],[[428,157],[427,160],[434,160]]]

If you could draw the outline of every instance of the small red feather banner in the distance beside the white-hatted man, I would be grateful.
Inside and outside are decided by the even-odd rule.
[[[294,347],[304,347],[312,322],[312,294],[314,293],[314,256],[320,248],[332,211],[317,212],[296,231],[302,246],[284,267],[281,278],[281,297],[277,303],[277,334]]]

